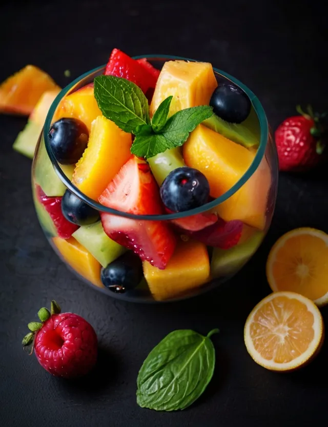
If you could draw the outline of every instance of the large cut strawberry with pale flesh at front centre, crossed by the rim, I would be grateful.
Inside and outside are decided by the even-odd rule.
[[[149,165],[132,157],[117,173],[99,202],[136,215],[162,213],[159,190]],[[106,234],[115,242],[132,249],[142,260],[164,269],[175,248],[175,237],[162,221],[138,221],[110,213],[100,213]]]

